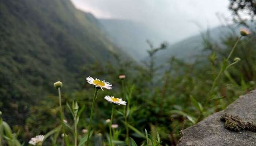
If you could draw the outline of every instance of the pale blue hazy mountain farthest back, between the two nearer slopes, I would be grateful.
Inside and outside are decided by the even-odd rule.
[[[166,39],[159,32],[139,22],[121,19],[98,20],[105,28],[106,36],[137,61],[147,56],[146,50],[149,49],[147,39],[155,46]]]

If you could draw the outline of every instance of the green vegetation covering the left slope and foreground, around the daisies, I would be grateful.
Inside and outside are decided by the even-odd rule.
[[[39,134],[52,146],[175,146],[180,130],[255,89],[254,32],[241,39],[236,29],[218,40],[202,35],[202,56],[183,60],[167,54],[166,43],[148,41],[142,66],[69,0],[1,1],[0,20],[4,146],[28,145]],[[168,61],[159,59],[164,52]],[[113,89],[96,88],[93,96],[87,76],[110,81]],[[63,86],[54,90],[57,80]],[[113,108],[106,95],[127,105]]]

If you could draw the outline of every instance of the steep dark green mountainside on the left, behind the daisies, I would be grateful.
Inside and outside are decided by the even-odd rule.
[[[28,105],[55,91],[57,80],[64,89],[78,87],[79,66],[111,61],[110,52],[121,53],[92,17],[69,0],[0,1],[0,109],[5,119],[20,120]]]

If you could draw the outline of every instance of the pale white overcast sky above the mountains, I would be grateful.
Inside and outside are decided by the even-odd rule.
[[[231,19],[229,0],[72,0],[97,18],[128,19],[146,24],[169,42],[220,25],[216,16]],[[199,25],[201,28],[199,28]]]

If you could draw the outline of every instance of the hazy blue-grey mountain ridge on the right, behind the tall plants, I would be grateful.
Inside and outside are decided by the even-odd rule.
[[[237,28],[235,33],[239,34],[239,27],[237,27],[235,24],[231,25],[230,27]],[[157,62],[158,64],[164,64],[172,56],[185,59],[187,61],[191,59],[194,60],[196,56],[206,53],[203,52],[203,37],[207,37],[212,42],[216,42],[221,45],[222,37],[225,37],[225,35],[228,34],[234,34],[228,26],[218,26],[204,31],[201,34],[193,35],[183,39],[182,41],[169,45],[166,50],[159,51],[159,53],[156,55]]]

